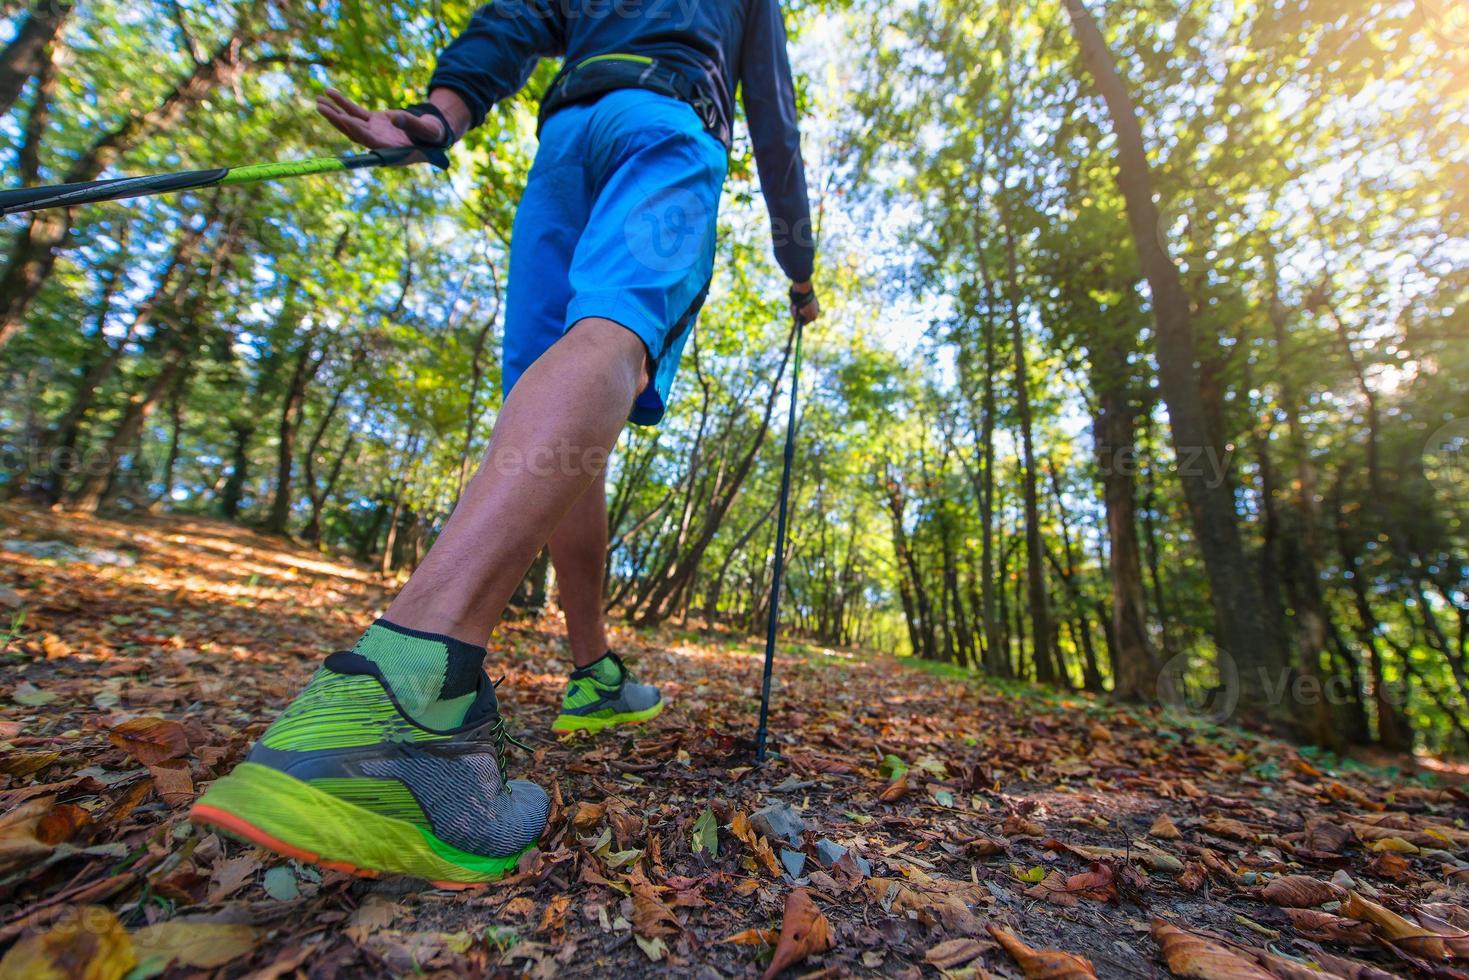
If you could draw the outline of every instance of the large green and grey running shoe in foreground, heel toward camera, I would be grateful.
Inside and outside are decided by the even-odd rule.
[[[505,782],[505,723],[480,676],[464,724],[435,732],[398,705],[379,667],[332,654],[190,818],[338,871],[492,882],[545,829],[551,801]]]

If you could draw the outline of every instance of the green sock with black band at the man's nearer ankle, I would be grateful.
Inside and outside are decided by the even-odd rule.
[[[353,652],[378,664],[408,717],[433,729],[463,721],[485,664],[483,646],[388,620],[369,626]]]

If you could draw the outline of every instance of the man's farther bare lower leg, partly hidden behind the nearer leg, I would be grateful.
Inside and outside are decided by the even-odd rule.
[[[551,535],[571,663],[586,667],[607,652],[602,621],[602,576],[607,570],[607,483],[592,480]]]

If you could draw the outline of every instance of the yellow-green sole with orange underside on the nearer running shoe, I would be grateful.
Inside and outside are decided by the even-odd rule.
[[[423,827],[323,793],[281,770],[241,763],[190,810],[190,820],[279,855],[357,877],[411,874],[436,887],[466,889],[516,870],[520,857],[480,857]]]

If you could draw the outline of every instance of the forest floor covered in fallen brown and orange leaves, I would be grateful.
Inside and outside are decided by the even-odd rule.
[[[533,748],[511,768],[555,799],[502,883],[351,879],[191,826],[385,598],[220,522],[0,508],[0,976],[1465,976],[1457,789],[789,645],[780,758],[752,768],[759,646],[692,630],[618,629],[670,707],[566,739],[557,623],[495,636]]]

